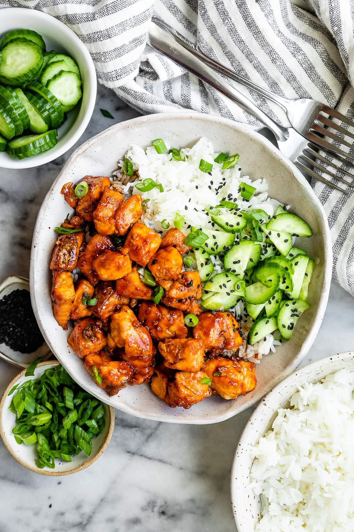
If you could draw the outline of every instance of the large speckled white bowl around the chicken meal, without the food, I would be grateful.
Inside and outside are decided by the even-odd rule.
[[[53,228],[64,220],[68,212],[60,190],[65,182],[76,181],[88,173],[110,176],[117,168],[117,160],[122,158],[133,142],[145,147],[158,137],[179,148],[191,146],[201,135],[210,138],[215,151],[240,153],[243,173],[254,178],[267,178],[270,196],[290,204],[312,227],[314,236],[299,241],[299,245],[317,261],[309,294],[311,307],[306,311],[306,317],[304,315],[299,320],[290,342],[284,342],[277,348],[276,354],[265,356],[257,366],[256,389],[234,401],[213,396],[189,410],[172,409],[154,396],[148,385],[127,386],[119,395],[109,398],[94,384],[82,360],[68,347],[70,331],[65,332],[58,326],[51,311],[48,264],[55,242]],[[202,424],[223,421],[256,403],[298,366],[321,325],[331,272],[329,228],[322,206],[302,174],[268,140],[243,124],[210,115],[153,114],[116,124],[103,131],[83,144],[67,161],[38,213],[32,243],[30,288],[33,309],[47,343],[80,386],[102,401],[139,417]]]

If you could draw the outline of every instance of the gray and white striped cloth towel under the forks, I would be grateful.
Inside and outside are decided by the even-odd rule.
[[[0,7],[8,6],[39,9],[71,27],[88,47],[99,81],[143,113],[194,109],[260,126],[145,48],[151,16],[157,14],[274,93],[318,99],[354,119],[354,0],[0,0]],[[239,89],[283,123],[277,106]],[[314,189],[331,228],[334,279],[354,295],[354,195],[320,182]]]

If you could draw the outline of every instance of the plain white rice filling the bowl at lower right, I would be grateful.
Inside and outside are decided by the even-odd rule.
[[[342,369],[299,387],[278,410],[252,450],[256,532],[354,530],[353,386],[354,373]]]

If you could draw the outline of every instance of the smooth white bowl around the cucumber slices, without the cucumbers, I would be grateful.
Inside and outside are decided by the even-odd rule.
[[[0,153],[0,168],[32,168],[53,161],[70,149],[81,137],[91,119],[96,103],[97,77],[88,49],[77,35],[63,22],[34,9],[8,7],[0,10],[0,38],[14,29],[37,31],[45,40],[47,50],[65,53],[79,65],[82,77],[82,99],[67,120],[58,129],[58,144],[48,151],[27,159],[13,159],[6,152]]]

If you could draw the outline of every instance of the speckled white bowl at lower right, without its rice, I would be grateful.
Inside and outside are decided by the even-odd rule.
[[[253,459],[249,452],[261,436],[270,430],[279,408],[289,405],[298,386],[315,383],[342,368],[354,371],[354,352],[348,351],[307,364],[278,384],[257,406],[245,426],[236,447],[231,470],[231,504],[238,532],[254,532],[260,518],[261,502],[247,489]]]

